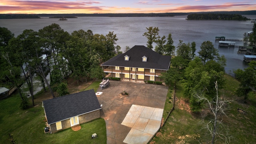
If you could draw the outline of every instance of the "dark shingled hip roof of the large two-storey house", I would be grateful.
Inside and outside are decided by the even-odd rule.
[[[129,60],[124,60],[124,56],[126,55],[130,56]],[[143,56],[148,58],[147,62],[142,62]],[[146,46],[134,46],[127,52],[118,54],[101,65],[168,70],[171,58],[172,56],[163,56]]]

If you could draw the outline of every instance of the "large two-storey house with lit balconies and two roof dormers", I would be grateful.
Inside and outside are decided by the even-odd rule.
[[[146,46],[134,46],[101,66],[105,73],[110,73],[110,77],[129,81],[156,82],[163,81],[159,76],[170,68],[171,58],[171,56],[158,54]]]

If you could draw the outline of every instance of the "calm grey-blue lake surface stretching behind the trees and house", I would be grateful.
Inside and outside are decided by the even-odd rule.
[[[15,36],[22,34],[23,30],[38,31],[52,23],[59,24],[70,34],[80,29],[92,30],[93,34],[103,35],[113,31],[118,38],[116,45],[121,46],[124,51],[126,46],[130,48],[134,45],[146,46],[147,39],[142,34],[147,31],[146,28],[152,26],[159,28],[160,36],[168,37],[168,34],[171,33],[175,46],[178,45],[179,40],[183,40],[184,43],[196,42],[196,54],[200,50],[202,42],[211,41],[219,50],[219,54],[224,55],[227,59],[226,73],[248,67],[243,62],[243,54],[237,54],[238,47],[219,48],[215,36],[225,36],[226,39],[242,39],[245,32],[252,31],[254,23],[250,21],[186,20],[186,17],[78,17],[68,18],[67,21],[60,21],[57,18],[0,19],[0,27],[8,28]],[[255,15],[246,17],[256,19]],[[234,42],[236,42],[236,46],[243,45],[241,41]]]

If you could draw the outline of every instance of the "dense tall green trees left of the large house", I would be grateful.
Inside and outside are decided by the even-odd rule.
[[[19,87],[26,81],[33,105],[32,76],[35,73],[55,97],[53,91],[68,76],[77,82],[102,78],[100,63],[115,56],[114,45],[118,40],[114,32],[102,35],[93,34],[91,30],[78,30],[69,34],[58,24],[45,26],[38,32],[24,30],[16,38],[7,28],[0,27],[0,32],[0,80],[16,86],[25,104],[26,96]],[[50,82],[46,79],[46,68],[49,68]],[[22,78],[21,73],[28,78]]]

